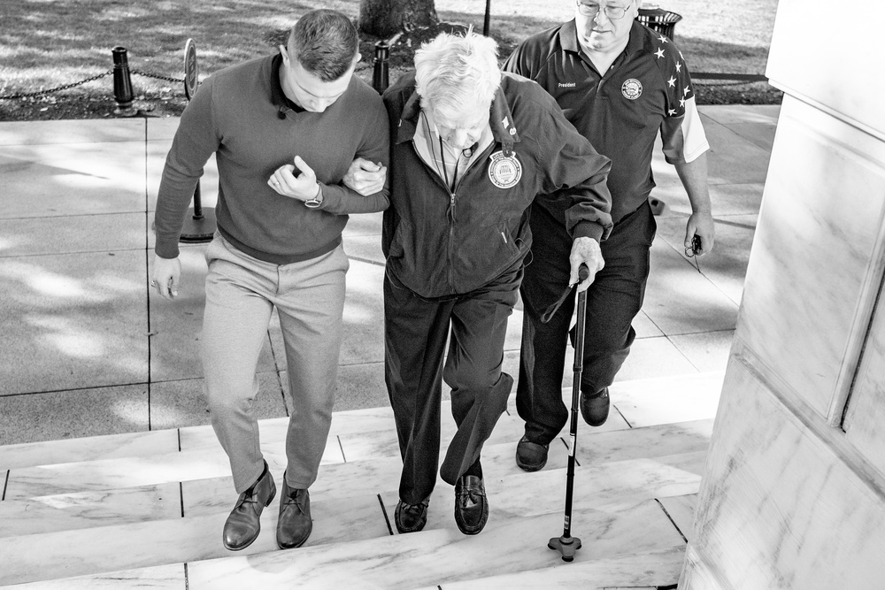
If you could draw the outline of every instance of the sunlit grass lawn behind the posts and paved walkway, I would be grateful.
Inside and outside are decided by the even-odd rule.
[[[693,71],[765,73],[776,2],[665,0],[660,4],[683,17],[675,37]],[[196,42],[205,78],[226,65],[273,51],[292,21],[315,6],[279,0],[2,0],[0,96],[55,88],[105,73],[112,68],[111,49],[116,45],[127,48],[130,68],[180,79],[188,38]],[[325,6],[358,16],[358,0],[331,0]],[[506,57],[508,48],[528,34],[572,18],[572,7],[569,0],[496,0],[491,4],[490,33],[502,42]],[[445,22],[473,24],[481,30],[485,3],[439,0],[436,10]],[[365,41],[360,75],[371,81],[375,39]],[[410,53],[409,48],[394,48],[393,57],[397,51]],[[133,85],[145,101],[136,105],[145,111],[181,110],[180,83],[135,75]],[[765,84],[741,88],[759,86],[767,88]],[[113,106],[112,78],[48,96],[0,100],[0,120],[77,118],[77,109],[63,108],[74,103],[81,118],[107,116],[108,106],[111,110]]]

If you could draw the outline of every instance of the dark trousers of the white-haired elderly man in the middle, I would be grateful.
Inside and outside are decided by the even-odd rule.
[[[441,378],[451,387],[451,411],[458,425],[440,468],[451,485],[479,459],[482,444],[507,406],[513,378],[501,365],[521,266],[519,261],[485,287],[450,299],[423,299],[384,280],[384,379],[403,456],[399,497],[406,503],[421,502],[436,483]]]

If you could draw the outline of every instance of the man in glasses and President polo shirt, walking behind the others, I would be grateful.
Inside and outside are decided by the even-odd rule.
[[[504,70],[538,82],[566,119],[612,159],[608,188],[614,228],[602,242],[604,269],[588,290],[581,377],[581,414],[590,425],[602,425],[609,412],[608,387],[635,338],[631,323],[643,306],[649,274],[656,230],[648,204],[655,186],[655,140],[659,133],[666,161],[689,195],[685,247],[696,236],[697,254],[713,246],[704,154],[709,146],[685,61],[666,36],[635,22],[639,0],[577,0],[574,10],[573,20],[521,43]],[[535,201],[531,226],[533,262],[520,289],[525,315],[517,389],[526,432],[516,462],[526,471],[543,468],[548,444],[568,418],[561,383],[574,302],[572,296],[550,323],[540,322],[568,284],[562,254],[571,242],[561,208],[547,201]]]

